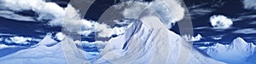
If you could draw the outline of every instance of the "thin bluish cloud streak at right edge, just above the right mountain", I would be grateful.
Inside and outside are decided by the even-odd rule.
[[[253,34],[253,33],[256,33],[256,30],[253,28],[247,28],[247,29],[236,30],[233,33]]]

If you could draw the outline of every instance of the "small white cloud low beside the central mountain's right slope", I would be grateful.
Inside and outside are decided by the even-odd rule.
[[[182,37],[188,42],[200,41],[202,38],[200,34],[197,34],[195,37],[190,35],[183,35]]]

